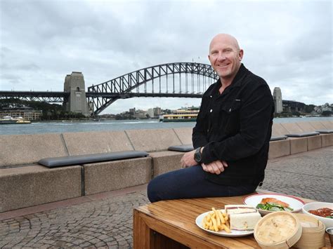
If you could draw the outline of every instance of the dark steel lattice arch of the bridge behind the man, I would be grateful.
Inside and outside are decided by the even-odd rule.
[[[171,86],[168,85],[169,75],[173,76]],[[190,83],[188,75],[191,78]],[[164,76],[166,86],[161,83]],[[178,90],[176,90],[175,76],[178,76]],[[182,76],[185,76],[183,79],[185,82],[182,82]],[[196,82],[194,76],[197,76]],[[202,76],[202,84],[199,76]],[[116,100],[129,97],[202,97],[202,93],[217,79],[218,75],[211,65],[197,62],[166,63],[138,69],[110,81],[90,86],[86,96],[92,114],[97,115]],[[148,83],[152,83],[151,92],[147,90]],[[140,89],[141,86],[143,90]]]

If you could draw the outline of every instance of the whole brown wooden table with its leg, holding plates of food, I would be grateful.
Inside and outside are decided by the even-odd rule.
[[[159,201],[138,207],[133,215],[134,248],[260,248],[253,235],[216,236],[195,224],[196,217],[201,213],[211,210],[212,207],[224,208],[226,204],[242,204],[244,197]],[[312,201],[301,199],[305,202]],[[325,244],[326,248],[330,248],[327,234]]]

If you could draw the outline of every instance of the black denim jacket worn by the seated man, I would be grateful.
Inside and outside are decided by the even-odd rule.
[[[207,173],[218,184],[259,184],[263,181],[272,133],[274,103],[266,81],[241,65],[233,83],[220,95],[221,81],[202,97],[193,147],[204,147],[202,162],[227,161],[220,175]]]

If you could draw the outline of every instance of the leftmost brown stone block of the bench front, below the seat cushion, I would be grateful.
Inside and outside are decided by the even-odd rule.
[[[0,169],[0,213],[81,196],[81,167]]]

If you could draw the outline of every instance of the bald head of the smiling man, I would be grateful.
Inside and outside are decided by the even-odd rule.
[[[209,45],[208,58],[221,80],[232,80],[240,69],[243,53],[235,37],[217,34]]]

